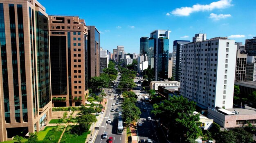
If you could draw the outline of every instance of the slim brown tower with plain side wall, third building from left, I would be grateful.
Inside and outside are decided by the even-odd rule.
[[[88,79],[100,74],[99,48],[100,33],[95,26],[88,27]]]

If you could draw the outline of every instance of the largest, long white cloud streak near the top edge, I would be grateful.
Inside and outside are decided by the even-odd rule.
[[[171,12],[171,14],[175,16],[189,16],[191,13],[198,12],[198,11],[212,11],[213,9],[225,9],[231,4],[232,0],[219,0],[217,2],[212,2],[210,4],[195,4],[192,7],[181,7],[176,8]]]

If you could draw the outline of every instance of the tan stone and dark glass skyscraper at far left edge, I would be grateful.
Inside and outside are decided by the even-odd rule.
[[[49,19],[36,0],[0,2],[0,141],[40,131],[52,116]]]

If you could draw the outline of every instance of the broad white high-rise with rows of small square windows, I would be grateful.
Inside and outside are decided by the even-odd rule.
[[[205,39],[182,45],[180,93],[204,107],[232,108],[235,41],[227,37]]]

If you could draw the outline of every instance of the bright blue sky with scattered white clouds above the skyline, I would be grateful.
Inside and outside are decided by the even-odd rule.
[[[100,46],[110,50],[124,45],[139,53],[139,38],[156,29],[171,30],[173,40],[192,40],[196,33],[207,39],[229,37],[236,42],[256,36],[256,0],[38,0],[49,15],[79,15],[95,25]]]

